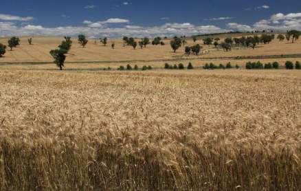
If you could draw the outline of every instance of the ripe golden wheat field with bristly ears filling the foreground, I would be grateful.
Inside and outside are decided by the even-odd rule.
[[[0,190],[301,190],[300,71],[0,70]]]

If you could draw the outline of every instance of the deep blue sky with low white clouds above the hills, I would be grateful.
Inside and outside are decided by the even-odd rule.
[[[0,36],[173,36],[301,30],[300,0],[1,2]]]

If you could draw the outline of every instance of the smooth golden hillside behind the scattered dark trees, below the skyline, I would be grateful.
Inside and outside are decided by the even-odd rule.
[[[243,34],[245,35],[245,34]],[[236,34],[237,36],[237,34]],[[276,34],[277,36],[277,34]],[[225,37],[225,36],[221,36]],[[62,37],[44,37],[35,36],[32,39],[33,45],[27,43],[27,37],[21,37],[21,45],[13,49],[13,51],[7,51],[3,58],[0,59],[0,63],[26,63],[26,62],[52,62],[53,58],[50,56],[49,51],[51,49],[58,48]],[[174,53],[169,45],[170,40],[164,40],[166,45],[153,46],[148,45],[144,49],[133,49],[133,47],[123,47],[121,39],[113,39],[115,42],[115,49],[111,49],[111,39],[108,40],[106,47],[100,44],[94,45],[93,39],[89,39],[89,43],[86,48],[80,47],[76,38],[72,38],[73,45],[69,54],[67,55],[67,62],[100,62],[100,61],[119,61],[119,60],[161,60],[161,59],[175,59],[184,56],[184,47],[180,47],[176,53]],[[0,43],[7,44],[8,38],[0,38]],[[136,39],[136,41],[140,41]],[[223,41],[223,38],[221,39]],[[238,49],[231,52],[223,52],[222,50],[216,51],[212,49],[212,45],[208,47],[203,45],[203,41],[199,40],[196,43],[201,44],[203,54],[199,56],[190,56],[190,58],[203,58],[203,57],[236,57],[236,56],[270,56],[281,54],[300,54],[300,43],[287,43],[287,41],[279,42],[275,39],[269,45],[258,45],[256,49]],[[187,45],[194,45],[193,41],[188,40]],[[209,52],[208,52],[209,50]]]

